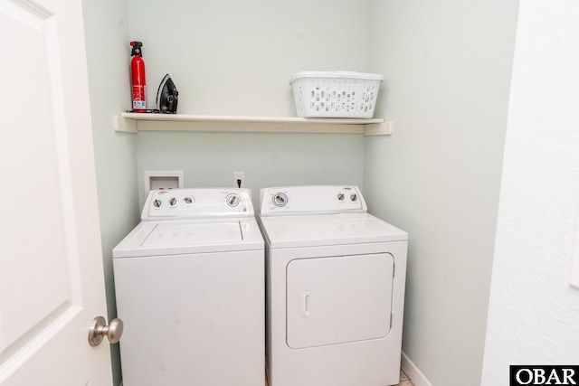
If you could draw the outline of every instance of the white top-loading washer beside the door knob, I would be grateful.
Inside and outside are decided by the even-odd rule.
[[[250,195],[149,193],[113,249],[124,386],[264,385],[264,244]]]

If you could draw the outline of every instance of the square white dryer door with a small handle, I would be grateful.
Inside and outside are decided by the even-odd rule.
[[[389,253],[294,259],[287,268],[287,343],[344,344],[390,332],[394,257]]]

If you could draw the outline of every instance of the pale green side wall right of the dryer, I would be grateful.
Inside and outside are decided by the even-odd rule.
[[[394,134],[365,139],[365,198],[409,232],[403,351],[434,385],[480,380],[517,5],[373,2]]]

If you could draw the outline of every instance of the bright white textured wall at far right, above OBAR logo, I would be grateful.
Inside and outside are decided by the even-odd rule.
[[[482,384],[579,363],[579,4],[521,1]]]

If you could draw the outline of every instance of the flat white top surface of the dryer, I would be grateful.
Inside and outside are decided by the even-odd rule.
[[[368,213],[261,217],[271,248],[405,241],[405,231]]]

